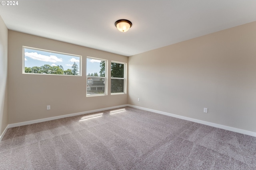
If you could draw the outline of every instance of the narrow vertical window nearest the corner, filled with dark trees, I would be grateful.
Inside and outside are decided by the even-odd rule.
[[[126,93],[126,64],[111,62],[111,94]]]

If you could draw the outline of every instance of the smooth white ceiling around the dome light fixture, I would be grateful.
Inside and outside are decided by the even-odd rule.
[[[16,1],[0,6],[9,30],[124,56],[256,21],[256,0]],[[128,32],[119,19],[132,22]]]

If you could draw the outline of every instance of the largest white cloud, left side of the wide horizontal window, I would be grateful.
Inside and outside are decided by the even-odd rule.
[[[45,62],[62,62],[62,58],[58,58],[56,56],[45,56],[42,54],[37,54],[37,52],[25,52],[26,57],[30,57],[34,60],[39,60],[39,61],[45,61]]]

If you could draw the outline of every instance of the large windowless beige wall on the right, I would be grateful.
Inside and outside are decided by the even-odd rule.
[[[128,63],[128,104],[256,132],[256,22]]]

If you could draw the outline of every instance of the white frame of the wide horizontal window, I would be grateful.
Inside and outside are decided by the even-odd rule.
[[[52,52],[52,53],[56,53],[56,54],[62,54],[62,55],[79,57],[79,75],[25,73],[25,48],[26,49],[31,49],[31,50],[38,50],[38,51],[44,51],[44,52]],[[28,46],[22,46],[22,74],[55,75],[55,76],[82,76],[82,56],[75,55],[75,54],[68,54],[68,53],[64,53],[64,52],[56,52],[56,51],[44,50],[44,49],[40,49],[40,48],[33,48],[33,47],[28,47]]]

